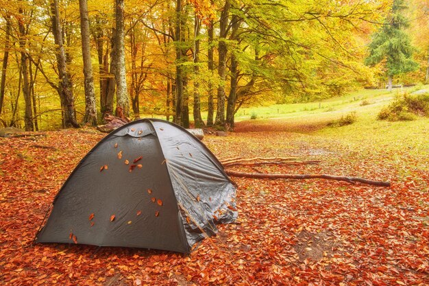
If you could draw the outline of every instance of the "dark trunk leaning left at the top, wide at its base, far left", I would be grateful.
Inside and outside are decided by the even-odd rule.
[[[60,25],[60,10],[58,8],[58,0],[51,2],[51,9],[53,10],[52,20],[52,33],[56,47],[56,57],[58,66],[58,76],[60,78],[60,86],[58,93],[60,93],[62,108],[64,112],[64,126],[79,128],[79,124],[75,118],[75,106],[73,102],[73,91],[71,90],[71,82],[69,73],[67,73],[66,53],[64,51],[64,44],[62,40],[62,29]]]

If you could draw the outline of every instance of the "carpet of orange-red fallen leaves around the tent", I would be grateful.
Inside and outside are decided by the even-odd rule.
[[[235,179],[239,218],[190,256],[33,245],[58,189],[102,137],[62,130],[0,139],[1,285],[429,285],[428,158],[401,146],[391,154],[370,143],[290,132],[206,136],[204,142],[219,158],[321,160],[234,167],[239,171],[350,175],[389,180],[392,187]]]

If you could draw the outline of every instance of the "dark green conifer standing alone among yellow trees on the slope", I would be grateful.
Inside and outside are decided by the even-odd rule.
[[[392,10],[382,28],[373,35],[369,56],[365,59],[365,64],[369,66],[385,60],[389,91],[392,89],[393,75],[415,71],[419,67],[412,58],[415,48],[404,31],[408,27],[408,19],[402,15],[407,9],[404,2],[393,0]]]

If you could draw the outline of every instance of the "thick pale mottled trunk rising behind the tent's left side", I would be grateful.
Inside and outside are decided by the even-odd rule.
[[[125,28],[124,28],[124,0],[115,0],[115,22],[116,33],[114,38],[114,46],[117,49],[117,70],[114,74],[114,79],[117,82],[117,110],[116,115],[121,116],[122,109],[125,117],[130,116],[130,99],[127,91],[127,75],[125,73]]]

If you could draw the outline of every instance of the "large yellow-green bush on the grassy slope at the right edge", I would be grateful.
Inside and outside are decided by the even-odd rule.
[[[378,112],[377,119],[388,121],[408,121],[419,116],[429,116],[429,93],[401,95],[389,106]]]

